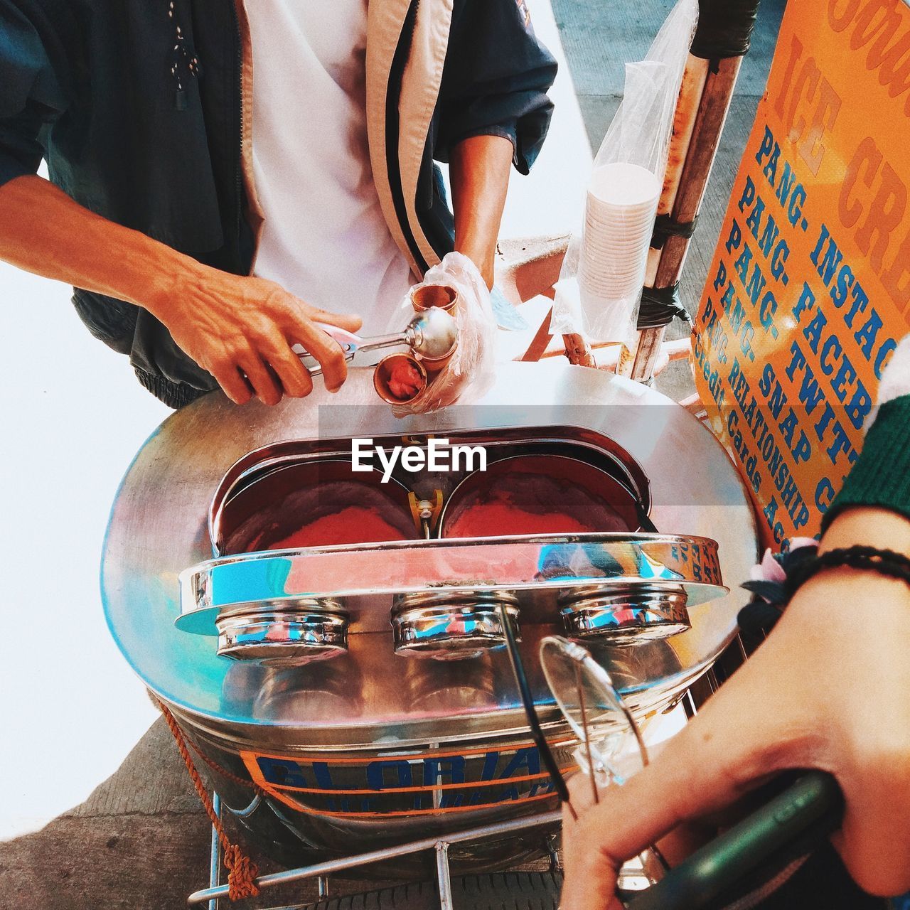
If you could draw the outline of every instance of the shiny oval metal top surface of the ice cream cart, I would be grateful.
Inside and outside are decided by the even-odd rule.
[[[501,652],[445,665],[410,661],[394,654],[387,623],[351,635],[349,652],[331,662],[286,669],[232,662],[217,656],[212,638],[175,625],[178,577],[212,559],[213,495],[252,450],[282,440],[553,426],[593,430],[627,450],[648,476],[658,531],[719,542],[723,581],[733,591],[691,605],[691,630],[635,648],[598,646],[623,693],[644,702],[654,693],[659,701],[733,636],[745,601],[736,586],[756,556],[752,508],[721,445],[687,411],[638,383],[564,361],[501,365],[477,404],[405,419],[376,399],[371,371],[361,369],[336,395],[319,386],[307,399],[274,408],[256,401],[236,407],[220,393],[198,399],[147,440],[117,493],[102,562],[110,630],[142,681],[179,713],[258,745],[392,747],[518,730],[521,703]],[[522,625],[523,653],[543,703],[536,644],[559,631],[558,613],[554,603],[552,624]]]

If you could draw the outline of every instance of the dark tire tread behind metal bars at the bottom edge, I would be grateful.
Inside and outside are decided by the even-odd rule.
[[[457,910],[556,910],[562,875],[551,872],[497,872],[453,875]],[[360,895],[329,898],[302,910],[439,910],[436,882],[414,882]]]

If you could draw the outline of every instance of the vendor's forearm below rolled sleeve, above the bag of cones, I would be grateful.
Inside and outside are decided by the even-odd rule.
[[[502,136],[471,136],[452,148],[449,176],[455,248],[493,286],[496,241],[509,188],[512,144]]]

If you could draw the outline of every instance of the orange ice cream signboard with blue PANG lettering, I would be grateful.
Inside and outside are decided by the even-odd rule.
[[[787,5],[696,319],[764,542],[818,533],[910,325],[910,7]]]

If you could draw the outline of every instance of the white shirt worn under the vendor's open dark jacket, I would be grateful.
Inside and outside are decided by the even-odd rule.
[[[410,268],[367,145],[368,0],[247,0],[253,168],[265,215],[254,274],[384,332]]]

